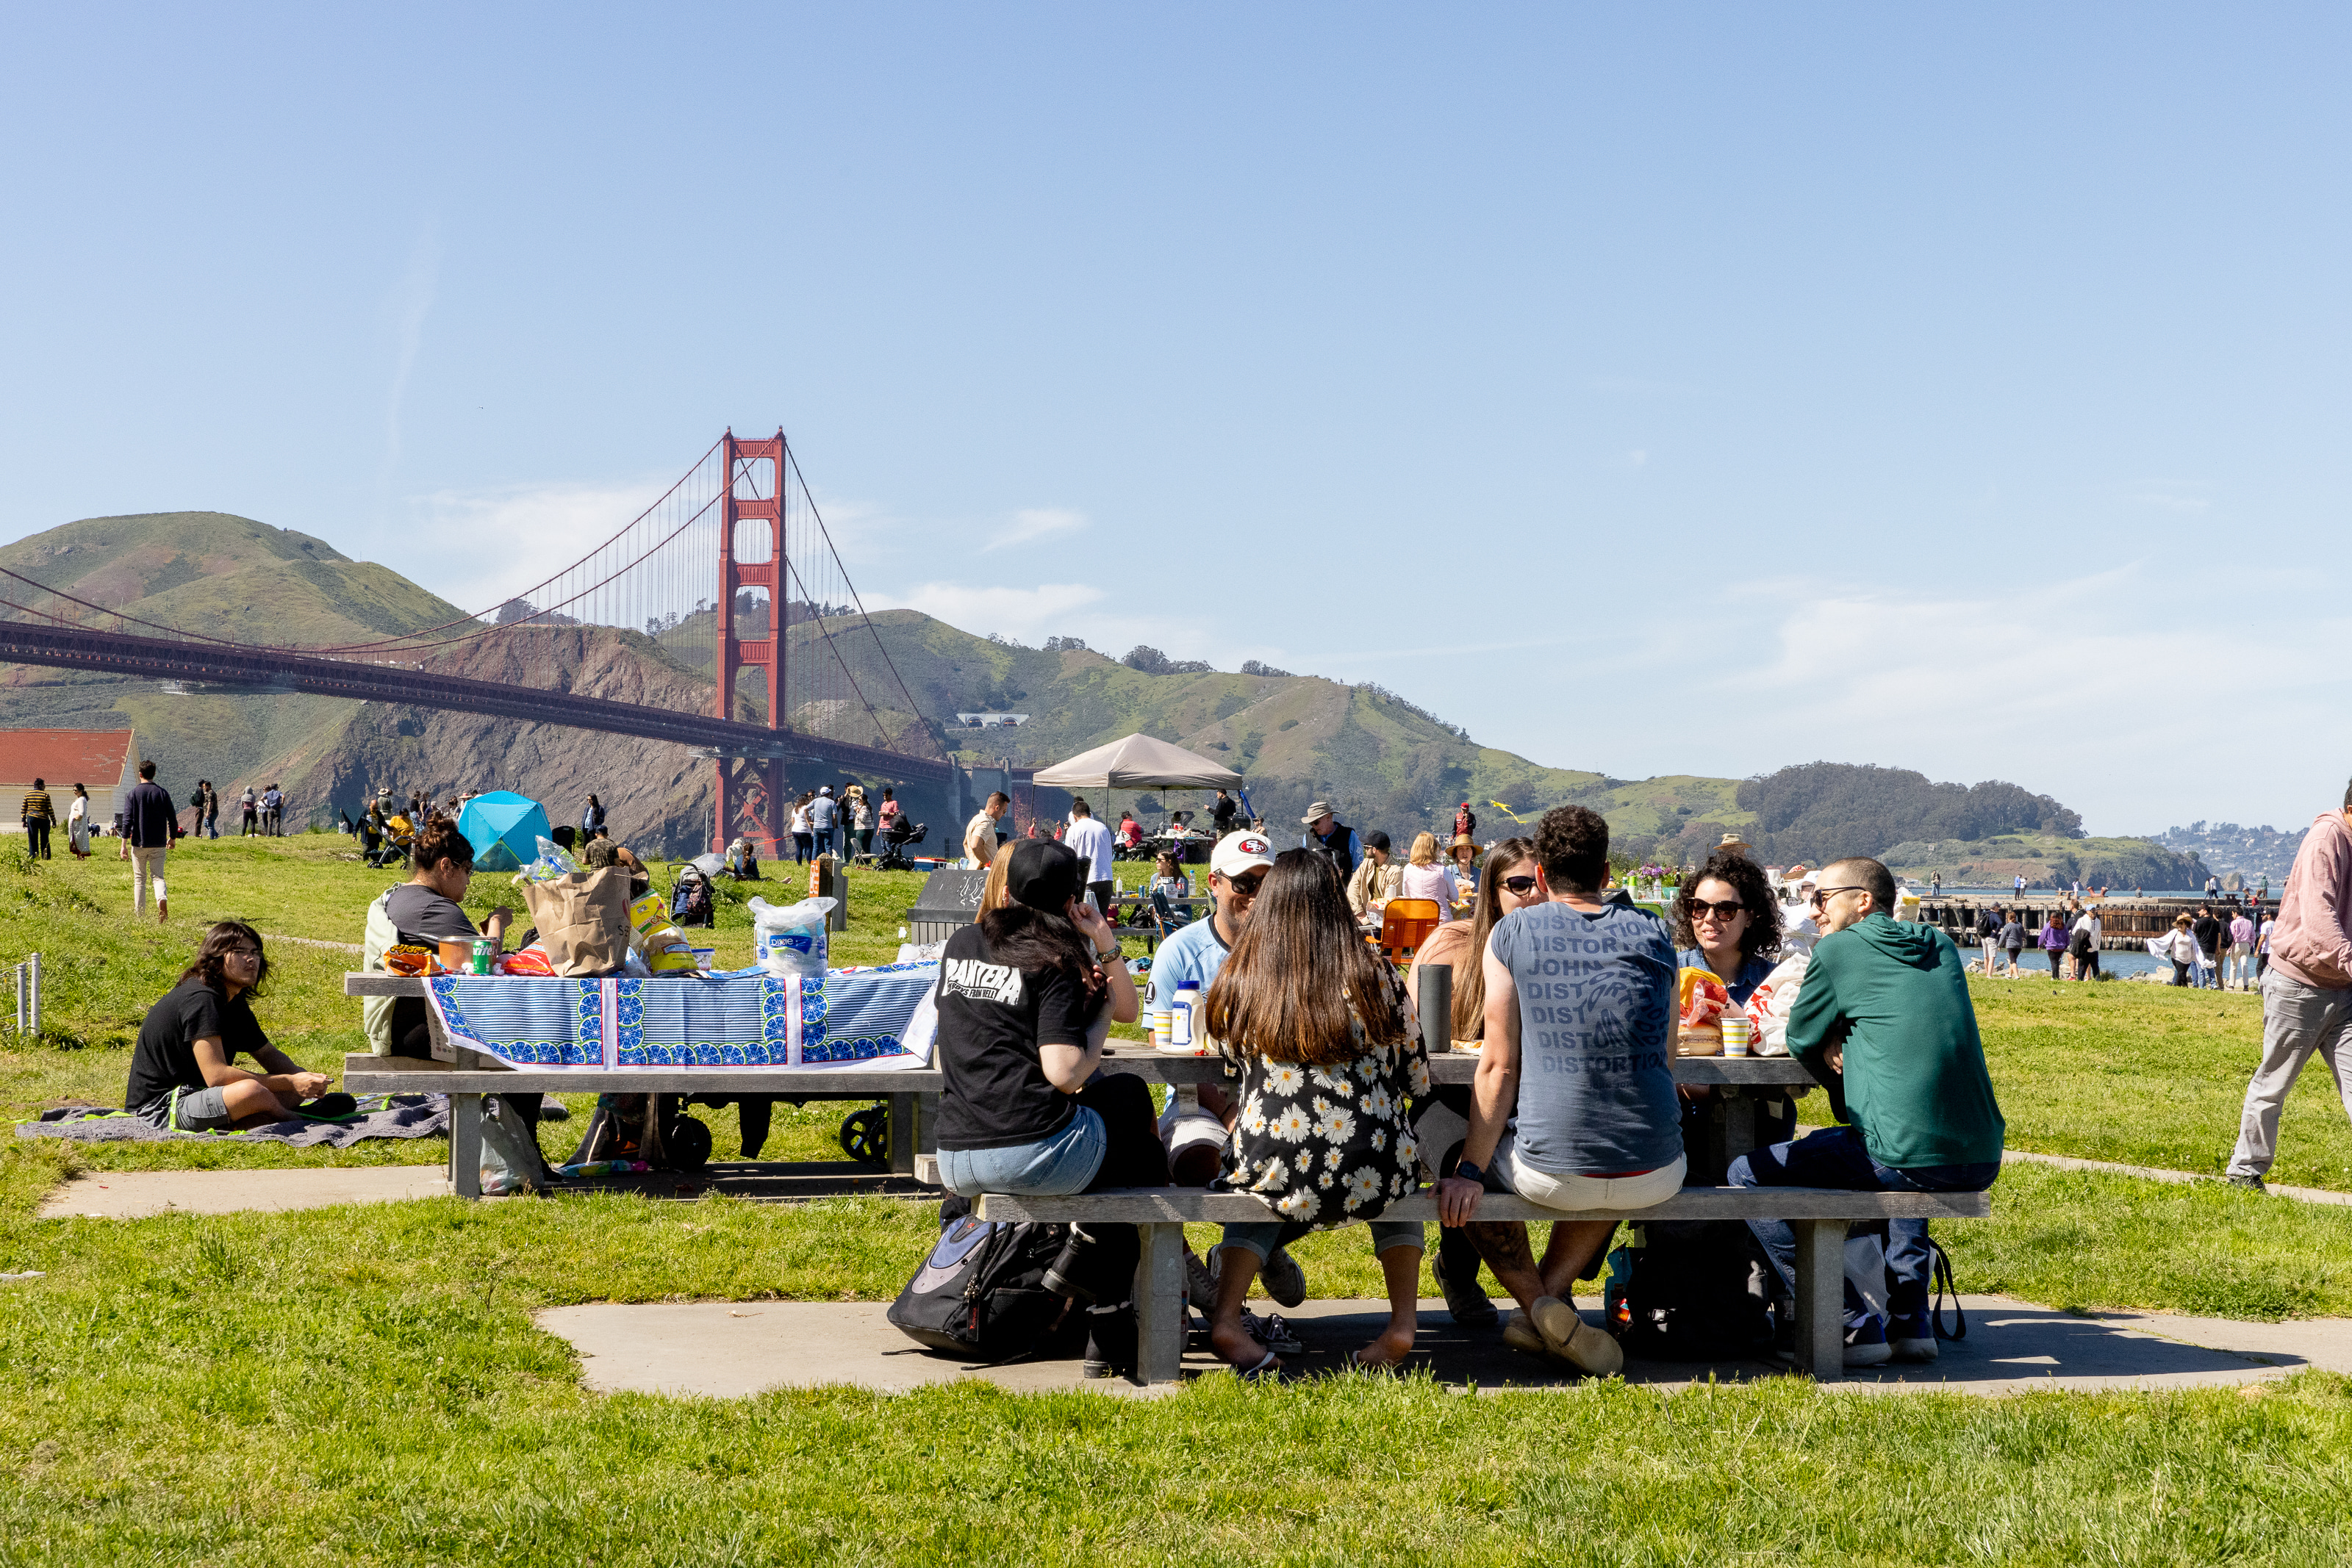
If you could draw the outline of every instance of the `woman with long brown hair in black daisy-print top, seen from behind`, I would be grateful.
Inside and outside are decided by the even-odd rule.
[[[1421,1185],[1411,1103],[1430,1093],[1414,1006],[1355,929],[1338,870],[1308,849],[1275,856],[1232,957],[1202,999],[1202,1027],[1240,1067],[1242,1112],[1211,1187],[1247,1192],[1265,1220],[1228,1225],[1209,1342],[1244,1378],[1282,1361],[1242,1326],[1265,1255],[1310,1229],[1371,1222],[1388,1279],[1388,1328],[1357,1366],[1414,1349],[1421,1222],[1381,1211]]]

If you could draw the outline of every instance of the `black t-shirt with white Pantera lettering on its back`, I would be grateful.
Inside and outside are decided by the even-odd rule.
[[[1103,1001],[1068,971],[997,964],[981,929],[960,926],[938,959],[938,1147],[1004,1150],[1058,1133],[1075,1100],[1047,1081],[1037,1046],[1084,1046]]]

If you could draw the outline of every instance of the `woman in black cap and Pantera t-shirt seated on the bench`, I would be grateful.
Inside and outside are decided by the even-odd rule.
[[[1150,1086],[1103,1072],[1110,1023],[1138,1016],[1120,938],[1068,846],[1021,839],[1009,856],[1009,903],[938,961],[938,1180],[967,1199],[1167,1187]],[[1134,1225],[1073,1227],[1047,1269],[1049,1291],[1094,1312],[1087,1375],[1136,1363],[1138,1251]]]

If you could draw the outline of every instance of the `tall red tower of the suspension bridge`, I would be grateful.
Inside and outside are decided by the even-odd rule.
[[[727,501],[720,527],[720,599],[717,599],[717,717],[734,717],[736,677],[760,670],[767,677],[767,722],[783,729],[783,430],[769,440],[724,435]],[[767,609],[739,607],[743,590],[764,590]],[[710,849],[727,849],[734,835],[767,839],[764,853],[779,856],[786,830],[783,806],[783,736],[764,755],[720,755],[717,759],[717,832]]]

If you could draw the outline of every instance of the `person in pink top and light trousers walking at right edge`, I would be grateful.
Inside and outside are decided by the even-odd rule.
[[[2352,785],[2343,811],[2321,811],[2296,851],[2296,870],[2279,893],[2263,976],[2263,1065],[2246,1084],[2237,1121],[2230,1182],[2263,1190],[2279,1157],[2279,1105],[2317,1051],[2336,1074],[2336,1093],[2352,1117]]]

